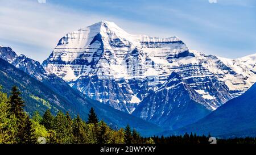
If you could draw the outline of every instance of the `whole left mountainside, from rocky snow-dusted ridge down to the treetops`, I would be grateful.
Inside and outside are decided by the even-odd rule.
[[[10,47],[0,47],[0,77],[4,92],[10,92],[13,85],[20,88],[28,114],[34,111],[43,114],[49,108],[53,114],[59,110],[68,111],[72,117],[79,114],[83,120],[87,120],[89,110],[93,107],[98,118],[112,128],[125,128],[130,124],[142,136],[162,132],[158,125],[86,97],[60,77],[44,70],[38,61],[24,55],[17,56]]]

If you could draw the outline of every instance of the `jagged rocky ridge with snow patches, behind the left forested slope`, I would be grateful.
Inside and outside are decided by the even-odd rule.
[[[0,48],[0,58],[13,64],[16,68],[23,70],[23,72],[29,74],[31,77],[38,79],[38,81],[43,82],[44,85],[56,93],[61,94],[69,102],[83,104],[84,98],[81,97],[82,94],[73,90],[63,79],[57,77],[55,74],[46,72],[40,62],[24,55],[18,56],[10,47]]]

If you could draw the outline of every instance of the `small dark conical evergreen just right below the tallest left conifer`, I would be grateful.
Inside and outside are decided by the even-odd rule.
[[[21,139],[21,143],[24,144],[35,144],[36,143],[36,137],[35,137],[35,129],[32,128],[32,122],[30,118],[26,118],[26,125],[23,130],[23,135]]]

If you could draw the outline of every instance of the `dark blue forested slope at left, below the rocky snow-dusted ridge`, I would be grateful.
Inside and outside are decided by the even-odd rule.
[[[47,108],[51,108],[53,114],[56,114],[58,110],[63,112],[69,111],[72,116],[80,114],[81,118],[86,120],[90,107],[94,107],[98,117],[105,120],[112,127],[125,127],[127,124],[130,124],[131,127],[136,128],[142,135],[152,135],[156,131],[162,130],[155,124],[148,123],[105,104],[100,104],[96,100],[84,97],[75,90],[71,89],[75,93],[71,92],[70,96],[68,95],[69,90],[66,93],[52,90],[46,83],[40,82],[22,70],[15,68],[15,66],[2,58],[0,58],[0,77],[0,85],[3,86],[3,91],[6,93],[10,92],[13,85],[19,87],[22,91],[22,97],[26,101],[25,110],[30,115],[36,110],[42,114]],[[57,85],[59,83],[56,83]],[[66,91],[65,87],[62,89],[63,92]],[[75,97],[72,97],[72,95],[75,95]],[[69,98],[72,98],[72,100]]]

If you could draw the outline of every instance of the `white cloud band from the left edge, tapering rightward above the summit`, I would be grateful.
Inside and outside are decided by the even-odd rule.
[[[114,16],[79,12],[37,1],[14,0],[0,5],[0,44],[12,46],[18,54],[22,53],[42,62],[65,33],[101,20],[115,22],[130,33],[144,33],[159,37],[176,35],[171,34],[174,32],[171,28],[166,32],[159,27]]]

